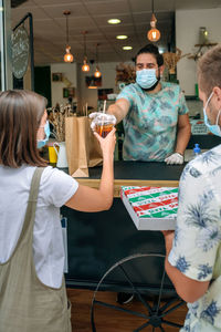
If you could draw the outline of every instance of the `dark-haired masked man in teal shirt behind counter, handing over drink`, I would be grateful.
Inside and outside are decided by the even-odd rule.
[[[136,83],[125,86],[107,110],[124,123],[124,160],[183,163],[191,134],[188,108],[179,85],[160,82],[162,72],[158,48],[143,48],[136,55]]]

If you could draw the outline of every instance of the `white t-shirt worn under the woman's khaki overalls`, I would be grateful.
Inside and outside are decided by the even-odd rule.
[[[0,166],[0,262],[6,262],[20,237],[31,180],[35,167]],[[60,207],[77,190],[78,183],[57,168],[42,174],[33,230],[33,258],[39,279],[60,288],[64,269],[64,247]]]

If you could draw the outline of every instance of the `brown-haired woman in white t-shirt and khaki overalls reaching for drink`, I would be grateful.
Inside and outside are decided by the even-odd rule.
[[[98,189],[48,166],[46,101],[34,92],[0,94],[0,332],[70,332],[60,207],[101,211],[113,203],[115,129],[103,151]]]

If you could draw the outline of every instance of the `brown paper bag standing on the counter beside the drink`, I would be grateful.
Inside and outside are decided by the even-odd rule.
[[[88,167],[102,163],[102,151],[91,129],[91,120],[86,116],[66,117],[65,142],[70,175],[88,177]]]

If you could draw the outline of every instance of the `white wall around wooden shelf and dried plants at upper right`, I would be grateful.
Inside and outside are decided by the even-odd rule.
[[[196,53],[200,27],[206,27],[209,41],[221,43],[221,8],[176,11],[176,45],[186,53]],[[203,52],[206,49],[202,50]],[[194,95],[197,63],[183,58],[178,62],[177,76],[186,95]]]

